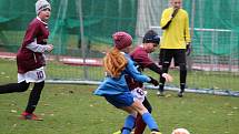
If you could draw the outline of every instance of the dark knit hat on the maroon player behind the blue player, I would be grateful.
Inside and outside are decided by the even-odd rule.
[[[160,42],[160,37],[153,30],[149,30],[148,32],[146,32],[143,40],[142,40],[142,43],[157,43],[157,44],[159,44],[159,42]]]

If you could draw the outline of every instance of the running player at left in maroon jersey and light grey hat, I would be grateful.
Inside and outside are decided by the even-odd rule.
[[[41,121],[33,114],[44,86],[46,58],[44,52],[51,52],[52,44],[48,44],[48,20],[51,14],[51,6],[47,0],[36,2],[37,18],[28,25],[23,42],[17,54],[18,83],[0,85],[0,94],[24,92],[30,83],[34,83],[30,93],[26,111],[21,114],[22,120]]]

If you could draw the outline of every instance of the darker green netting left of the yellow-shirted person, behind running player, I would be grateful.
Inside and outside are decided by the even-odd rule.
[[[8,50],[16,52],[21,44],[27,24],[36,17],[34,2],[0,1],[0,40]],[[82,0],[82,4],[77,0],[51,0],[51,6],[50,42],[54,44],[57,54],[67,54],[69,48],[77,49],[80,40],[80,8],[84,37],[90,41],[110,43],[111,34],[118,30],[135,34],[136,0]],[[19,38],[12,39],[16,35]]]

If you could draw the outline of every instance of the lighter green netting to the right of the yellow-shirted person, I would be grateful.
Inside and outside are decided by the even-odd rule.
[[[186,10],[193,18],[195,55],[232,55],[239,59],[238,3],[238,0],[185,1]]]

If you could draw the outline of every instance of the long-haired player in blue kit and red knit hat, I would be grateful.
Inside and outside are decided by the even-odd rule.
[[[130,75],[139,82],[149,82],[156,86],[158,85],[158,81],[142,75],[133,65],[133,61],[126,54],[129,52],[132,43],[130,34],[126,32],[114,33],[113,43],[113,49],[103,59],[103,66],[108,76],[94,91],[94,94],[104,96],[110,104],[129,113],[125,121],[122,134],[130,134],[135,126],[137,113],[142,116],[143,122],[151,130],[151,134],[161,134],[148,110],[139,100],[133,99],[125,76]]]

